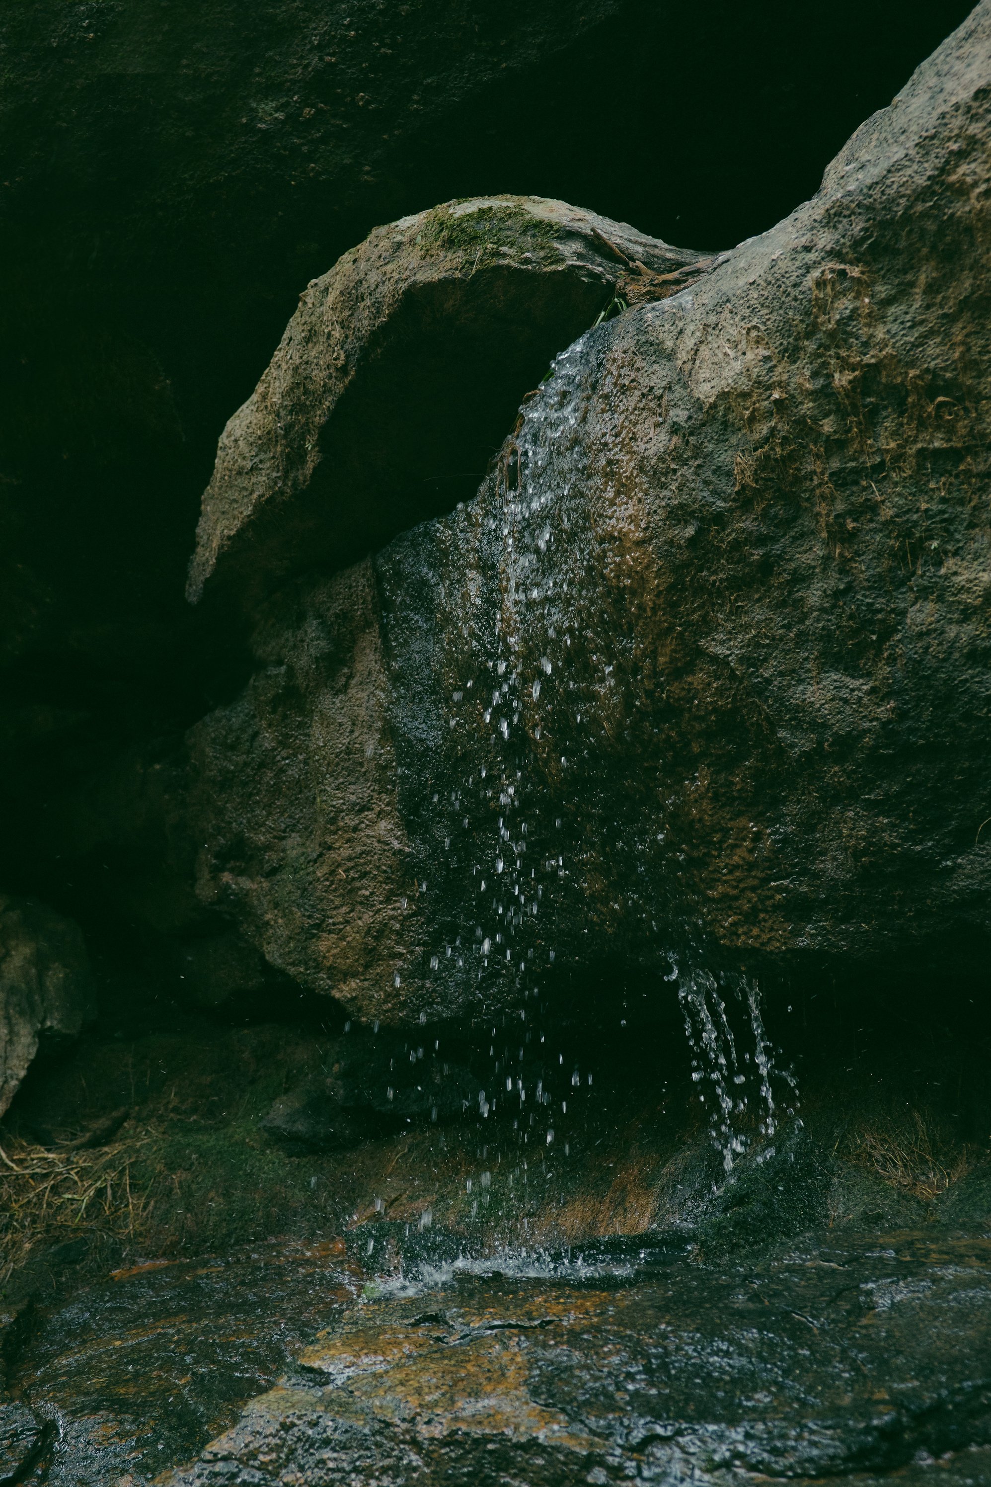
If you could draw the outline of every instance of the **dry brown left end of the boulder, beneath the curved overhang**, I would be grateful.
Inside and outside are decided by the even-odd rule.
[[[306,611],[279,607],[244,694],[190,735],[201,898],[365,1014],[376,974],[401,975],[412,897],[374,602],[361,564]]]

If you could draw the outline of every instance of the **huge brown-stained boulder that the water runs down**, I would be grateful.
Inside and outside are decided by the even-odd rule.
[[[987,946],[990,80],[982,3],[811,202],[563,352],[475,501],[260,608],[193,819],[273,964],[406,1020],[700,940]],[[232,424],[208,555],[261,529],[281,410],[312,547],[328,293]]]

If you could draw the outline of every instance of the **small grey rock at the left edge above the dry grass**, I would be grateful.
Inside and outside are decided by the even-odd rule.
[[[43,904],[0,894],[0,1115],[40,1039],[73,1038],[94,1014],[79,928]]]

